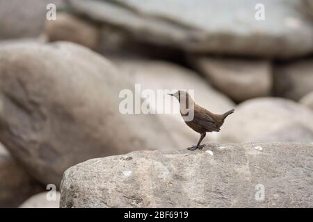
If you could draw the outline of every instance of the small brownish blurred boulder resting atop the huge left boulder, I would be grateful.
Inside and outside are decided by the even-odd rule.
[[[97,26],[66,12],[58,12],[58,19],[55,21],[47,20],[45,33],[51,42],[75,42],[90,49],[97,49],[100,41],[100,31]]]

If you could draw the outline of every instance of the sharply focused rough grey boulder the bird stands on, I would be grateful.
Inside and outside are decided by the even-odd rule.
[[[88,160],[65,171],[60,206],[313,207],[312,154],[312,144],[207,144]]]

